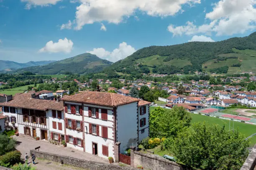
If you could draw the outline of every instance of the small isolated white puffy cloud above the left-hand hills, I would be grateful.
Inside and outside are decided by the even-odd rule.
[[[64,38],[64,40],[59,39],[58,42],[49,41],[46,45],[39,50],[39,52],[65,52],[69,53],[73,49],[72,40]]]

